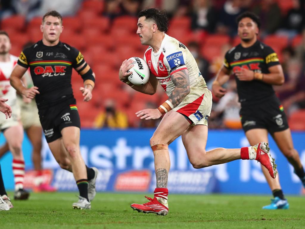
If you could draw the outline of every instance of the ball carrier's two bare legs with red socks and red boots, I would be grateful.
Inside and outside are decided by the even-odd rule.
[[[155,156],[155,171],[157,179],[157,187],[154,191],[155,197],[153,199],[146,197],[150,202],[142,205],[132,204],[131,208],[134,210],[143,213],[156,213],[159,215],[166,215],[168,213],[167,178],[170,160],[167,147],[168,144],[181,135],[188,158],[194,168],[197,169],[241,159],[242,151],[243,154],[247,154],[247,159],[262,159],[259,158],[260,152],[263,151],[260,145],[258,145],[258,148],[255,150],[254,147],[244,147],[242,149],[217,148],[206,152],[207,126],[196,125],[192,127],[184,116],[178,112],[169,111],[164,115],[155,133],[150,139],[150,144]],[[251,158],[249,158],[250,156]],[[269,150],[264,151],[263,157],[264,162],[261,163],[269,163],[268,165],[272,171],[271,173],[272,175],[275,175],[269,158]]]

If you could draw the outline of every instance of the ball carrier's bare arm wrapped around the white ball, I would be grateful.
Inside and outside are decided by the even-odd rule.
[[[120,81],[128,84],[133,89],[138,92],[142,92],[144,94],[153,95],[156,93],[159,81],[156,77],[149,77],[148,82],[145,85],[134,85],[128,81],[128,76],[131,75],[133,72],[128,72],[134,65],[131,64],[132,60],[124,60],[119,71],[119,79]]]

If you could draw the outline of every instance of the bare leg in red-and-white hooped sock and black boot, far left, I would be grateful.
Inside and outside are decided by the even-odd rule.
[[[27,199],[29,192],[23,189],[24,181],[24,159],[22,154],[23,128],[22,125],[9,127],[4,131],[9,150],[13,154],[13,174],[15,180],[14,198],[18,200]]]

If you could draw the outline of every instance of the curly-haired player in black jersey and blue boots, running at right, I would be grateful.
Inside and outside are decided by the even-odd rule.
[[[245,12],[237,18],[237,22],[241,43],[226,53],[224,66],[213,82],[213,92],[219,98],[224,96],[226,89],[222,85],[233,72],[241,103],[242,127],[249,143],[267,142],[269,132],[305,186],[304,169],[293,147],[285,112],[272,88],[272,85],[284,83],[278,56],[271,47],[257,40],[260,21],[255,14]],[[268,171],[264,167],[262,169],[274,195],[271,204],[263,208],[288,209],[278,176],[270,179]]]

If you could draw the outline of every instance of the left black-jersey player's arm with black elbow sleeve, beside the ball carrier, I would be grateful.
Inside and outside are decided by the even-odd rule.
[[[83,93],[84,101],[88,102],[92,99],[92,90],[95,85],[95,74],[86,61],[81,66],[75,68],[75,70],[84,80],[84,87],[80,87],[79,90]]]

